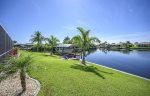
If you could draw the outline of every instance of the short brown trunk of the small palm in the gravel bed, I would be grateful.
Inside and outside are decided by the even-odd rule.
[[[24,92],[26,91],[26,73],[24,69],[21,69],[20,80],[21,80],[22,92]]]

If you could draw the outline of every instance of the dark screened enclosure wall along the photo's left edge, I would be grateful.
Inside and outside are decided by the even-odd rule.
[[[0,25],[0,58],[9,53],[13,48],[13,41]]]

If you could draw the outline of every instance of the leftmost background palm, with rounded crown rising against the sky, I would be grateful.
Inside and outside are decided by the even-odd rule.
[[[39,51],[39,46],[40,46],[40,44],[42,44],[42,41],[44,40],[44,37],[42,36],[40,31],[35,31],[34,35],[32,35],[31,37],[32,38],[30,39],[30,41],[32,43],[37,44],[37,51]]]

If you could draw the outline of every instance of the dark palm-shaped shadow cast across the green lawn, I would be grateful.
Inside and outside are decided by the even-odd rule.
[[[78,69],[78,70],[85,71],[85,72],[92,72],[95,75],[101,77],[102,79],[106,79],[106,78],[101,73],[110,74],[110,75],[113,74],[111,72],[99,70],[98,68],[94,66],[84,66],[84,65],[75,64],[75,65],[72,65],[71,68]]]

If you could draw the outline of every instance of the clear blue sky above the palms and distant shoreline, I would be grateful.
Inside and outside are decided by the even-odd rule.
[[[0,24],[19,43],[36,30],[62,41],[78,26],[101,41],[150,41],[150,0],[0,0]]]

